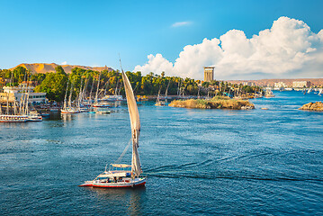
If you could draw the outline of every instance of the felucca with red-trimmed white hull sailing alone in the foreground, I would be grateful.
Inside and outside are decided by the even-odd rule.
[[[79,186],[92,187],[136,187],[146,184],[146,177],[140,176],[142,173],[139,159],[139,134],[140,120],[135,96],[128,77],[122,70],[122,79],[126,92],[128,110],[130,114],[131,140],[132,140],[132,159],[131,165],[111,164],[109,170],[98,175],[92,181],[85,181]],[[125,152],[122,153],[122,155]],[[121,155],[121,156],[122,156]]]

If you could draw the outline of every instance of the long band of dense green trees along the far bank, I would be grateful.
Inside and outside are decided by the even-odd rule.
[[[102,72],[85,70],[79,67],[72,69],[72,72],[67,75],[63,67],[55,68],[56,73],[46,74],[31,74],[25,67],[16,67],[13,71],[4,69],[0,70],[0,77],[9,78],[11,84],[19,85],[22,81],[33,81],[32,85],[37,85],[35,92],[46,92],[49,100],[62,102],[66,91],[73,86],[73,98],[83,91],[85,87],[86,96],[94,98],[94,94],[99,84],[99,97],[105,94],[122,94],[124,88],[122,84],[122,76],[119,70],[103,70]],[[220,82],[213,80],[211,82],[195,81],[191,78],[181,78],[178,76],[166,76],[165,72],[161,75],[149,73],[142,76],[141,72],[126,72],[130,79],[134,94],[136,95],[157,95],[166,94],[168,86],[168,95],[241,95],[252,94],[260,91],[257,86],[247,85],[232,85],[228,82]],[[100,80],[99,80],[100,77]],[[68,87],[67,87],[68,83]],[[201,84],[202,86],[198,85]],[[199,89],[200,88],[200,89]],[[117,92],[116,92],[117,91]],[[91,94],[90,94],[91,93]]]

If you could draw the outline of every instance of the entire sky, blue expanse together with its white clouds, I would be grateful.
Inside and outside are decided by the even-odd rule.
[[[0,68],[108,66],[202,79],[323,77],[323,1],[0,0]]]

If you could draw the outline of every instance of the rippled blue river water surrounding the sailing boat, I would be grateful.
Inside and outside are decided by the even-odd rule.
[[[274,92],[255,110],[139,104],[139,189],[78,187],[130,140],[126,104],[0,125],[2,215],[322,215],[323,112],[318,94]],[[261,108],[268,108],[262,110]],[[130,163],[130,151],[122,163]]]

